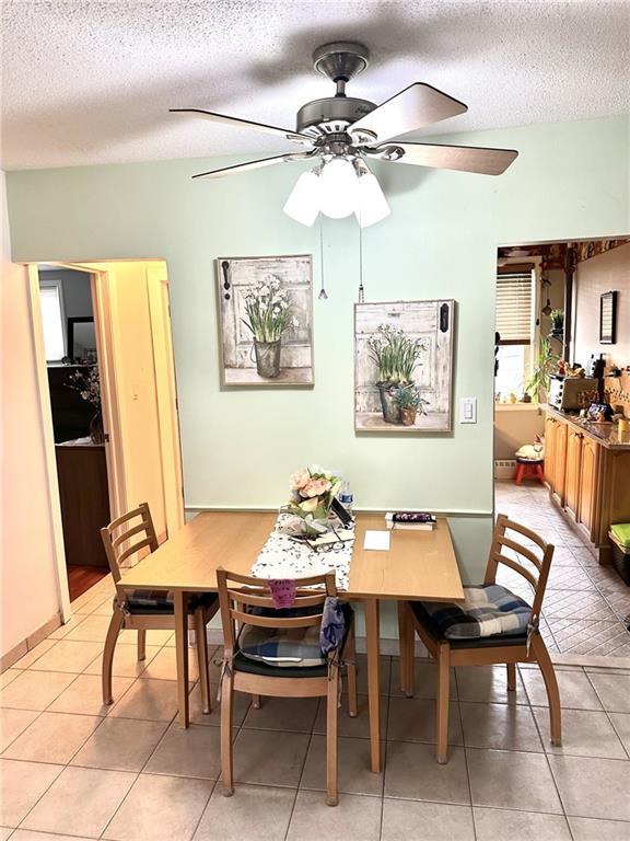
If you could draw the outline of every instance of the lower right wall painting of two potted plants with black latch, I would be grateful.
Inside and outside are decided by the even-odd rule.
[[[451,430],[454,302],[354,306],[357,431]]]

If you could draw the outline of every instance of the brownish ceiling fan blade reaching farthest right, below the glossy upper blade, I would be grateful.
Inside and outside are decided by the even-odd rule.
[[[518,157],[515,149],[490,149],[474,146],[433,146],[431,143],[387,143],[376,147],[382,161],[435,166],[440,170],[501,175]]]

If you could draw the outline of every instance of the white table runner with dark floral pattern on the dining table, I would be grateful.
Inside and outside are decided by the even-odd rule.
[[[302,578],[335,569],[338,589],[347,590],[354,538],[312,549],[285,532],[292,519],[289,514],[278,516],[273,531],[252,566],[252,575],[257,578]]]

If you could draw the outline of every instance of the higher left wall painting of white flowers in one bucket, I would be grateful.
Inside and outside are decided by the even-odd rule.
[[[312,265],[307,254],[220,257],[224,385],[313,385]]]

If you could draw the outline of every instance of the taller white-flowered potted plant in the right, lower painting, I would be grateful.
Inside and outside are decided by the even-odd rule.
[[[412,384],[413,370],[425,348],[424,339],[409,338],[402,330],[381,324],[378,331],[368,339],[368,346],[378,368],[376,387],[381,395],[383,418],[388,424],[400,424],[400,407],[395,394],[399,387]]]

